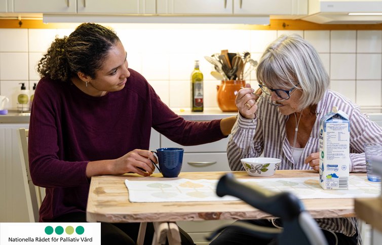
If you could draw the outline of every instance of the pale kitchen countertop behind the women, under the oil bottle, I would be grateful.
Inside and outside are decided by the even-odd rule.
[[[171,108],[176,114],[182,116],[186,120],[206,121],[213,119],[221,119],[228,116],[236,115],[237,112],[222,112],[220,109],[205,109],[203,112],[192,112],[190,109]],[[30,113],[19,113],[16,110],[9,110],[7,115],[0,115],[1,123],[19,123],[29,122]]]

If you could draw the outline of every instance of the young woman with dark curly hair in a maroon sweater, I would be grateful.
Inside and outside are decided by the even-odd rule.
[[[86,222],[94,175],[149,176],[157,158],[151,128],[182,145],[217,141],[235,118],[186,121],[168,108],[138,72],[128,67],[120,39],[84,23],[56,38],[39,62],[30,115],[29,165],[33,183],[46,188],[42,222]],[[139,224],[101,225],[104,244],[135,244]],[[146,232],[150,244],[152,232]],[[185,232],[182,241],[192,243]],[[188,239],[187,239],[188,238]]]

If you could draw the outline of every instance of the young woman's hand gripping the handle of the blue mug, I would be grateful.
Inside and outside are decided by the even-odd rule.
[[[157,157],[149,150],[132,150],[115,160],[112,172],[114,174],[136,173],[142,176],[150,176],[155,170],[155,166],[150,159],[155,163],[158,162]]]

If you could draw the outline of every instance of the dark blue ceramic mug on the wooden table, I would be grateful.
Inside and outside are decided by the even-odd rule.
[[[178,177],[182,169],[183,152],[182,148],[159,148],[151,151],[158,157],[159,169],[166,178]]]

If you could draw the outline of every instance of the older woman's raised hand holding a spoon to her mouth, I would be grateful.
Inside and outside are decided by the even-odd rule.
[[[256,101],[261,94],[261,90],[258,89],[256,93],[253,94],[254,92],[255,90],[251,88],[251,85],[246,84],[245,88],[239,90],[236,95],[236,106],[238,107],[241,116],[248,119],[254,119],[256,117]]]

